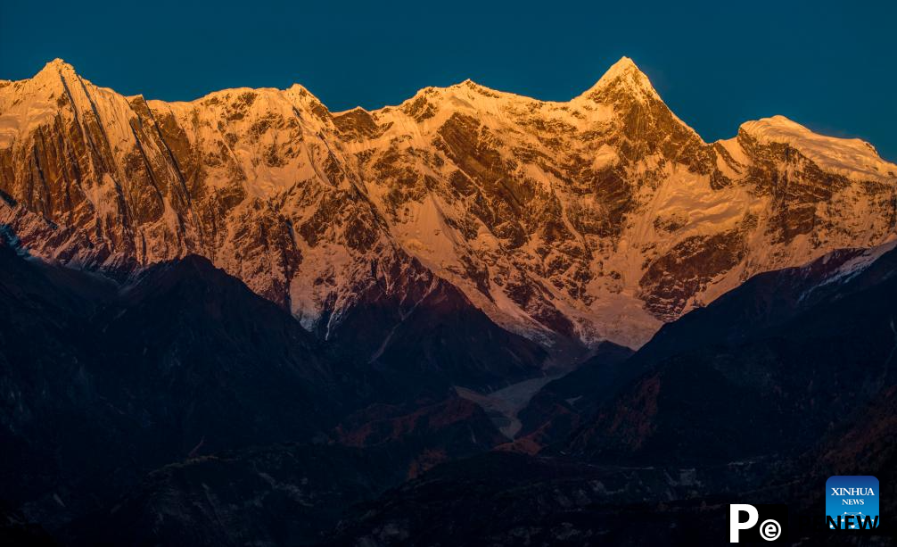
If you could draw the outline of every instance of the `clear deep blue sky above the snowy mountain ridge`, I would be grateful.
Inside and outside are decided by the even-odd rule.
[[[567,100],[626,55],[706,140],[783,114],[897,160],[897,3],[686,4],[2,2],[0,78],[62,57],[121,93],[187,100],[298,82],[344,110],[468,77]]]

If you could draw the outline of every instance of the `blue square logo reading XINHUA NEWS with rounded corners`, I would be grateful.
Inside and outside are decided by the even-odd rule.
[[[830,530],[875,530],[878,527],[878,479],[871,475],[836,475],[825,481],[825,521]]]

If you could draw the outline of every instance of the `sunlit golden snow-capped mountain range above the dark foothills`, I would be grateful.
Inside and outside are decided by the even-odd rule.
[[[629,58],[567,102],[466,81],[331,112],[298,84],[126,97],[0,82],[0,227],[131,271],[197,253],[330,336],[446,281],[551,343],[638,347],[756,273],[892,238],[897,165],[775,116],[706,143]]]

